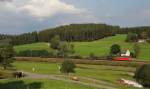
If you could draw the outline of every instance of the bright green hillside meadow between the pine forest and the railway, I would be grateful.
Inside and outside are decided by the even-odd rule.
[[[119,44],[122,50],[130,49],[132,51],[133,44],[125,42],[126,35],[117,35],[113,37],[107,37],[93,42],[73,42],[75,45],[76,54],[81,56],[89,56],[90,53],[94,53],[97,56],[105,56],[109,53],[109,49],[112,44]],[[138,59],[149,60],[150,59],[150,44],[141,43],[141,53]],[[52,51],[49,48],[48,43],[34,43],[15,46],[17,52],[22,50],[41,50],[45,49]]]

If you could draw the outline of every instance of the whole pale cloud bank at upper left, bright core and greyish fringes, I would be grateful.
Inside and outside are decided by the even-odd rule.
[[[73,4],[68,4],[61,0],[23,0],[21,4],[19,0],[4,1],[6,2],[0,5],[0,10],[29,15],[38,20],[61,14],[77,16],[81,19],[97,19],[92,12],[83,8],[77,8]]]

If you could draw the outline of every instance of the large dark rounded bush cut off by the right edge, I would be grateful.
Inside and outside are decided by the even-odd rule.
[[[145,64],[139,67],[135,72],[134,78],[144,87],[150,88],[150,64]]]

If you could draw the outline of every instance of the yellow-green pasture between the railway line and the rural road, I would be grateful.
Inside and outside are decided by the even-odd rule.
[[[32,68],[34,67],[35,71],[33,73],[48,74],[48,75],[64,75],[60,73],[58,68],[60,64],[58,63],[15,62],[13,65],[16,66],[17,70],[22,70],[27,72],[33,72]],[[136,69],[135,67],[78,64],[76,68],[76,73],[70,75],[105,81],[108,84],[104,84],[104,85],[115,86],[118,87],[119,89],[122,89],[123,87],[126,87],[126,89],[136,89],[133,87],[117,85],[117,80],[120,78],[133,80],[133,76],[130,74],[133,74],[135,69]],[[74,88],[70,88],[70,89],[74,89]],[[90,89],[95,89],[95,88],[90,88]]]

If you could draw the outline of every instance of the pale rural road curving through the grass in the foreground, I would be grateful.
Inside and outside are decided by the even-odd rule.
[[[94,84],[93,83],[87,83],[87,82],[81,82],[81,81],[74,81],[74,80],[70,80],[70,79],[66,79],[63,78],[63,76],[61,75],[46,75],[46,74],[36,74],[36,73],[30,73],[30,72],[24,72],[27,76],[24,77],[25,79],[52,79],[52,80],[61,80],[64,82],[69,82],[69,83],[76,83],[76,84],[82,84],[82,85],[86,85],[86,86],[90,86],[90,87],[97,87],[99,89],[118,89],[116,87],[111,86],[111,84],[108,84],[105,81],[100,81],[100,80],[96,80],[96,79],[92,79],[92,78],[86,78],[86,77],[81,77],[82,79],[85,80],[90,80],[90,81],[94,81],[100,84]],[[109,86],[110,85],[110,86]]]

